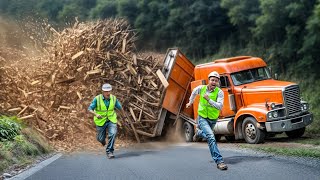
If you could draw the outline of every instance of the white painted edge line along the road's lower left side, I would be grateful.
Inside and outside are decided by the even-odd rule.
[[[22,173],[13,176],[12,178],[9,178],[7,180],[24,180],[27,179],[29,176],[33,175],[34,173],[36,173],[37,171],[41,170],[42,168],[48,166],[49,164],[51,164],[52,162],[54,162],[55,160],[59,159],[62,156],[61,153],[56,154],[54,156],[52,156],[49,159],[46,159],[44,161],[42,161],[41,163],[37,164],[36,166],[23,171]]]

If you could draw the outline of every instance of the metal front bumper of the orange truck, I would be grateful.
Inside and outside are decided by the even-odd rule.
[[[313,115],[311,113],[299,117],[279,121],[266,122],[267,132],[284,132],[300,129],[311,124]]]

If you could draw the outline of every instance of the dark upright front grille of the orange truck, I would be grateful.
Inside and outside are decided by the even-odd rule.
[[[284,101],[288,116],[294,116],[301,112],[300,90],[298,85],[286,87],[284,90]]]

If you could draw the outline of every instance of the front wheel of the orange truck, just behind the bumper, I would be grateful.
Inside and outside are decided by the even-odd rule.
[[[259,144],[264,142],[266,132],[257,128],[257,121],[253,117],[247,117],[242,123],[242,133],[244,139],[249,144]]]

